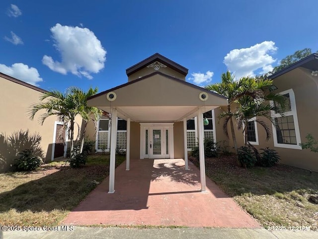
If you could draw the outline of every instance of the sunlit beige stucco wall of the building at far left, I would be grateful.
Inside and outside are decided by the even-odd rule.
[[[49,117],[41,126],[37,120],[40,113],[31,121],[27,117],[27,109],[32,103],[38,102],[42,94],[39,91],[19,85],[0,77],[0,171],[9,170],[15,155],[8,155],[8,146],[3,140],[13,132],[29,130],[29,133],[40,133],[41,147],[45,152],[45,159],[49,161],[52,154],[54,117]],[[19,148],[22,150],[23,148]]]

